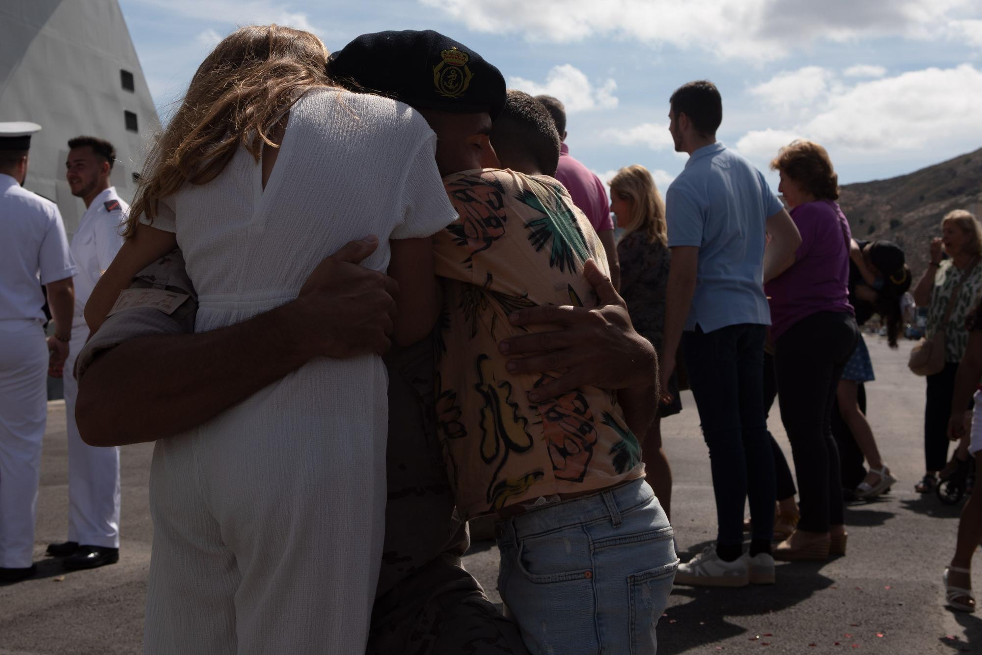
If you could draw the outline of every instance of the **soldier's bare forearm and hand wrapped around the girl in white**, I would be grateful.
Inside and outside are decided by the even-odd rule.
[[[98,355],[79,383],[82,440],[122,446],[171,437],[313,357],[385,352],[397,286],[357,265],[377,246],[374,238],[349,243],[313,270],[296,300],[244,323],[196,334],[158,329]]]

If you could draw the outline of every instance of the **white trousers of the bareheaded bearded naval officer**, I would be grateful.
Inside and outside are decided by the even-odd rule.
[[[75,361],[88,338],[88,326],[76,317],[65,363],[65,424],[68,429],[68,540],[83,546],[120,547],[120,449],[82,442],[75,422],[79,383]]]

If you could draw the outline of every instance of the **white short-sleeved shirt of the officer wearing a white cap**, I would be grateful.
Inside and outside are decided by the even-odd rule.
[[[58,206],[0,173],[0,321],[44,321],[41,284],[76,273]]]

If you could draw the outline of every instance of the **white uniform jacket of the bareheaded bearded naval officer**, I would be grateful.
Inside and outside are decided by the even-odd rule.
[[[109,187],[96,196],[82,214],[79,229],[72,237],[72,257],[79,266],[79,274],[75,277],[77,319],[82,317],[85,303],[92,295],[95,283],[123,246],[120,231],[129,213],[130,206],[120,199],[116,187]],[[81,327],[87,334],[88,329],[84,323]]]

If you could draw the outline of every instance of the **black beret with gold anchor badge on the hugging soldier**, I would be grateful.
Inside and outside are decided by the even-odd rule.
[[[417,109],[486,111],[494,119],[505,106],[501,71],[433,30],[361,34],[331,56],[327,71],[338,84]]]

